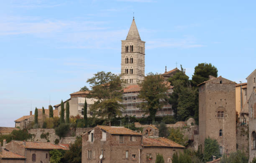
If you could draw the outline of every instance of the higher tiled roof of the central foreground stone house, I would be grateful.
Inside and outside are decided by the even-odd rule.
[[[100,129],[112,134],[112,135],[141,135],[140,132],[135,132],[125,127],[115,127],[115,126],[100,126]]]

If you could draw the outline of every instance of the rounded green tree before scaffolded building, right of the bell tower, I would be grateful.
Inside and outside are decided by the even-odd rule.
[[[141,108],[149,112],[149,118],[155,122],[155,116],[158,109],[160,109],[167,101],[166,92],[169,89],[164,77],[159,74],[149,73],[145,79],[141,82],[141,91],[139,98],[144,102],[141,104]]]

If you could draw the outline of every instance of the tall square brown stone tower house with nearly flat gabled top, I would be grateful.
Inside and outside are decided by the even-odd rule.
[[[236,83],[212,76],[198,87],[199,144],[203,149],[210,137],[218,141],[221,154],[236,151]]]

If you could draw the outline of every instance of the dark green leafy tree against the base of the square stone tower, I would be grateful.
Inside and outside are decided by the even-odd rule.
[[[211,138],[205,138],[205,147],[204,147],[204,160],[212,160],[212,156],[215,155],[216,158],[220,158],[220,149],[217,140]],[[248,161],[247,161],[248,162]]]

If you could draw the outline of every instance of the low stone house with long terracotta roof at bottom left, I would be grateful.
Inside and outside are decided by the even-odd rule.
[[[12,140],[5,148],[26,158],[26,163],[49,163],[50,150],[67,150],[64,145]]]

